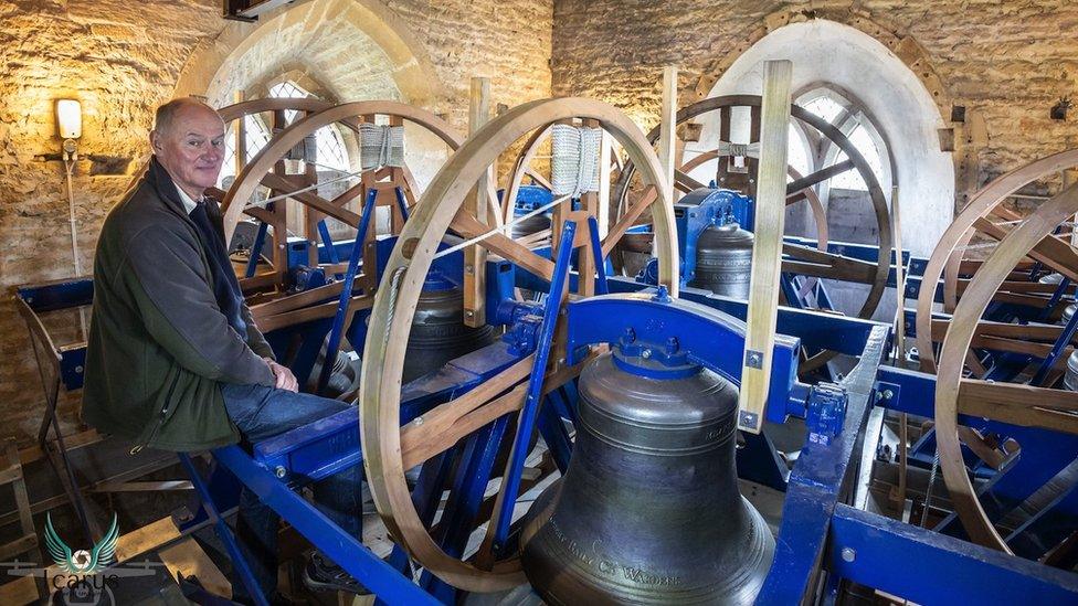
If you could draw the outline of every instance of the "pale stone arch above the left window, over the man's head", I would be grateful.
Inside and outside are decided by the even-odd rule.
[[[340,40],[348,40],[347,50]],[[255,23],[231,21],[195,49],[175,95],[225,105],[232,100],[229,92],[293,70],[338,99],[394,98],[437,110],[445,98],[424,46],[378,0],[311,0],[271,11]],[[356,93],[363,78],[369,95]]]

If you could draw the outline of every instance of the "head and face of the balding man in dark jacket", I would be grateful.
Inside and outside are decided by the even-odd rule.
[[[176,184],[195,200],[218,182],[224,161],[224,121],[199,105],[181,107],[165,132],[154,131],[154,152]]]

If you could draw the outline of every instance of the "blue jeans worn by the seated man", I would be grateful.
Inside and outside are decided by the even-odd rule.
[[[246,442],[258,442],[313,423],[349,406],[336,400],[263,385],[223,383],[229,417]],[[363,540],[363,468],[355,465],[314,485],[315,504],[345,532]],[[236,535],[265,596],[277,586],[277,530],[281,517],[244,487],[240,493]],[[233,573],[233,599],[250,603],[243,582]]]

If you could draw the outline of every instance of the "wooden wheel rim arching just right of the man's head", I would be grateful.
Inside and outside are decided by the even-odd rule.
[[[278,132],[273,140],[258,151],[254,159],[247,162],[240,174],[236,176],[236,182],[229,190],[224,200],[221,201],[221,208],[224,210],[222,214],[224,217],[225,242],[232,240],[236,223],[240,222],[240,215],[243,213],[243,204],[233,202],[249,200],[262,182],[262,176],[268,172],[288,150],[319,128],[335,123],[345,123],[356,117],[370,114],[397,116],[415,123],[436,135],[451,150],[456,150],[461,147],[462,138],[453,130],[448,123],[425,109],[399,102],[353,102],[335,105],[316,114],[310,114]]]

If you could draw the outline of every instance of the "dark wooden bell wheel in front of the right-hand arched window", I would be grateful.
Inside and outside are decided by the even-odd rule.
[[[750,114],[755,116],[758,115],[760,105],[761,98],[755,95],[712,97],[681,108],[678,110],[675,121],[677,125],[681,125],[704,114],[719,111],[721,116],[721,131],[719,134],[719,138],[723,141],[729,141],[729,125],[732,108],[747,107],[749,108]],[[876,308],[879,306],[879,301],[884,296],[885,289],[887,288],[887,278],[890,272],[891,263],[892,232],[890,227],[890,213],[887,209],[887,200],[884,196],[884,191],[880,189],[879,181],[876,179],[876,174],[868,166],[868,162],[865,161],[865,158],[860,155],[857,148],[854,147],[854,145],[849,141],[849,139],[846,138],[845,135],[843,135],[841,130],[823,118],[820,118],[818,116],[796,105],[791,106],[790,115],[804,125],[814,128],[823,137],[826,137],[828,140],[834,142],[848,159],[843,162],[825,167],[805,177],[795,178],[794,182],[790,183],[786,188],[788,204],[797,202],[801,199],[806,200],[812,208],[817,228],[820,225],[823,225],[824,230],[826,230],[826,216],[823,212],[822,205],[818,204],[818,199],[814,199],[813,194],[807,192],[812,192],[812,188],[818,183],[842,174],[849,169],[855,169],[868,185],[869,199],[871,200],[873,211],[876,216],[876,226],[879,234],[879,252],[877,254],[876,263],[873,264],[828,253],[826,252],[826,248],[820,247],[818,244],[817,248],[815,249],[807,246],[784,244],[783,254],[790,256],[791,258],[783,262],[783,272],[807,277],[832,278],[843,281],[870,285],[869,291],[865,297],[865,302],[857,312],[857,317],[864,319],[871,318],[873,313],[876,311]],[[754,119],[753,121],[757,120]],[[656,127],[648,134],[648,140],[654,143],[658,140],[658,136],[659,129]],[[704,156],[707,159],[700,160],[700,162],[725,157],[726,153],[721,152],[720,150],[711,150],[706,152]],[[695,164],[691,164],[691,161],[687,162],[686,166],[695,168]],[[749,176],[750,179],[754,181],[754,176],[752,176],[751,171],[752,169],[750,168]],[[622,171],[621,177],[617,180],[617,184],[614,188],[617,196],[619,213],[622,217],[632,215],[633,213],[633,206],[627,203],[627,200],[634,172],[635,167],[631,162],[627,162],[625,170]],[[689,177],[685,170],[675,171],[674,183],[675,188],[684,192],[704,187],[701,183]],[[648,192],[645,190],[642,195],[646,198]],[[823,232],[823,235],[826,235],[826,231]],[[832,351],[816,353],[815,355],[802,361],[800,372],[808,372],[817,369],[834,357],[835,352]]]

